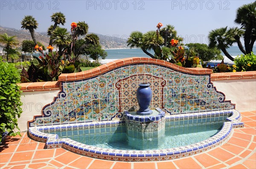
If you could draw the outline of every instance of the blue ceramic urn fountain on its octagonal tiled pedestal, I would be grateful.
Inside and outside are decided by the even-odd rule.
[[[137,101],[140,109],[131,112],[125,110],[124,114],[128,143],[141,147],[152,139],[161,140],[161,136],[165,134],[165,112],[160,108],[150,110],[148,108],[152,99],[150,84],[141,83],[139,86]],[[140,141],[139,145],[134,144],[138,141]]]

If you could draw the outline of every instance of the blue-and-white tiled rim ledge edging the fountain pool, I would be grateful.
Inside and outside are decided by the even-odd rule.
[[[118,126],[125,125],[124,121],[102,121],[102,122],[90,122],[81,124],[63,124],[55,126],[44,126],[44,127],[29,127],[29,136],[37,141],[46,142],[47,148],[58,148],[63,147],[72,152],[86,155],[93,158],[100,158],[112,161],[162,161],[171,160],[176,158],[182,158],[200,152],[212,149],[215,146],[225,144],[228,141],[228,136],[232,132],[232,128],[243,127],[244,123],[240,122],[240,114],[236,110],[225,110],[219,112],[207,112],[207,113],[193,113],[193,114],[181,114],[171,115],[166,117],[166,120],[170,119],[184,119],[184,118],[201,118],[201,117],[215,117],[215,115],[231,114],[230,117],[226,118],[221,130],[211,138],[205,141],[201,141],[188,146],[180,146],[170,149],[159,149],[159,150],[119,150],[119,149],[105,149],[95,146],[89,146],[73,141],[70,138],[58,138],[58,135],[47,134],[41,132],[42,130],[59,130],[66,129],[72,130],[73,128],[88,128],[95,127],[99,128],[100,125]]]

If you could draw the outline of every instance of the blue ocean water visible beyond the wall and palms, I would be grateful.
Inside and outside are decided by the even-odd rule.
[[[108,53],[108,56],[104,60],[101,60],[102,64],[111,62],[111,61],[116,60],[116,59],[123,59],[123,58],[128,58],[128,57],[147,57],[147,58],[150,58],[150,56],[145,54],[140,48],[105,49],[105,51]],[[242,52],[240,51],[238,46],[232,46],[230,48],[227,48],[227,51],[233,57],[236,57],[238,55],[240,56],[242,54]],[[256,54],[256,47],[253,48],[253,52]],[[154,55],[153,50],[149,51],[149,53]],[[224,56],[223,53],[221,53],[221,54]]]

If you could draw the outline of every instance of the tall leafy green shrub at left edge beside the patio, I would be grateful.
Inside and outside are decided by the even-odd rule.
[[[0,142],[2,134],[9,132],[8,135],[20,135],[15,132],[19,130],[17,118],[22,113],[20,101],[20,87],[16,84],[20,82],[20,73],[13,64],[2,62],[0,59]]]

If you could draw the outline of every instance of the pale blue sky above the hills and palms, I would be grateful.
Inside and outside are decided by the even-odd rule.
[[[127,39],[132,31],[156,30],[157,23],[174,25],[183,43],[208,43],[209,31],[234,23],[236,9],[253,0],[0,0],[0,25],[21,29],[25,15],[38,21],[35,31],[45,32],[50,16],[61,11],[70,29],[85,21],[89,32]]]

